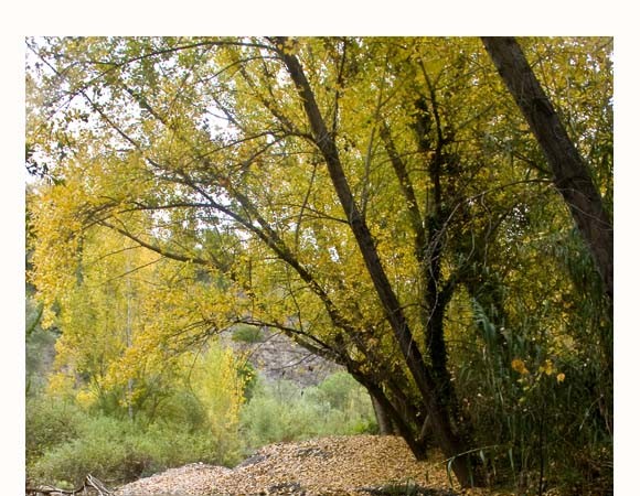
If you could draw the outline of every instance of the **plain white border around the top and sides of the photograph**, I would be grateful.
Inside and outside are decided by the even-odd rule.
[[[632,2],[583,0],[408,1],[326,0],[151,2],[77,0],[20,2],[4,9],[2,36],[2,158],[0,181],[4,235],[0,274],[3,339],[0,378],[4,416],[0,422],[6,494],[20,494],[24,479],[24,36],[26,35],[614,35],[615,36],[615,208],[616,208],[616,488],[637,471],[633,452],[638,330],[634,203],[639,160],[634,120],[638,69]],[[632,24],[633,23],[633,24]],[[622,433],[622,435],[620,435]],[[622,455],[622,456],[621,456]],[[14,488],[15,490],[12,490]],[[620,493],[621,494],[621,493]]]

